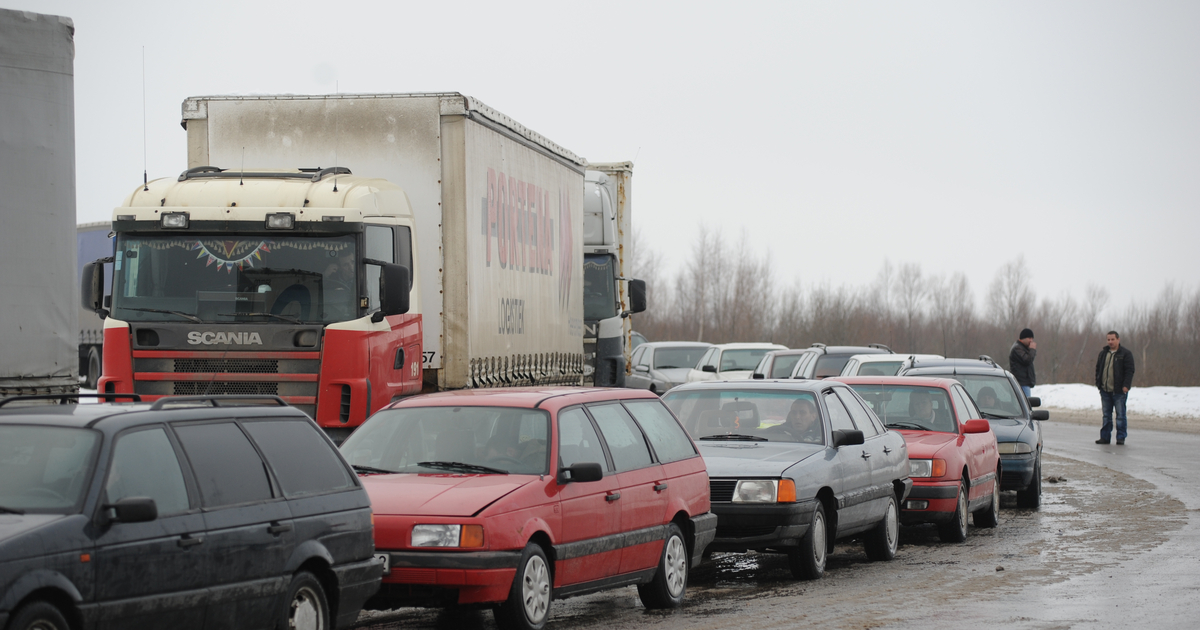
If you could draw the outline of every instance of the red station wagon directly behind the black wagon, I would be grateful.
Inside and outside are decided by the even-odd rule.
[[[637,584],[678,606],[716,533],[704,461],[644,390],[464,390],[396,402],[342,454],[385,562],[368,608],[496,606],[541,628],[556,598]]]

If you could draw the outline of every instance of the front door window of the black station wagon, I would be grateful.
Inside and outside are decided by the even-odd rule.
[[[150,497],[158,516],[187,510],[187,485],[175,448],[162,427],[122,433],[113,446],[113,464],[104,482],[108,503]]]

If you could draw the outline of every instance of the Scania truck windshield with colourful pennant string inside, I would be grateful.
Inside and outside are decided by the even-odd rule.
[[[119,236],[113,317],[332,323],[358,317],[355,236]]]

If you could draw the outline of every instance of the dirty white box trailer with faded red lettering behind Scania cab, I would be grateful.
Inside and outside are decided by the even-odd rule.
[[[426,388],[578,382],[587,162],[461,94],[200,96],[190,168],[348,167],[408,194]]]

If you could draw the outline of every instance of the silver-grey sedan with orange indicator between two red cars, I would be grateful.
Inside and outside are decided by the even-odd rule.
[[[713,380],[662,396],[708,467],[712,551],[785,553],[818,578],[838,539],[859,535],[871,559],[895,556],[908,450],[842,383]]]

